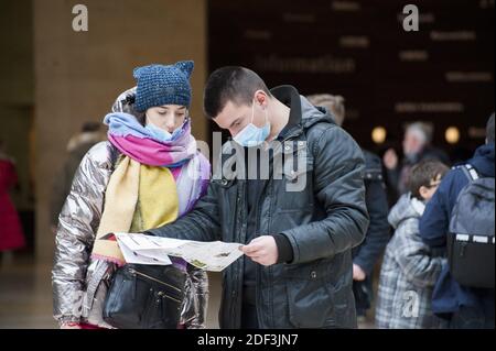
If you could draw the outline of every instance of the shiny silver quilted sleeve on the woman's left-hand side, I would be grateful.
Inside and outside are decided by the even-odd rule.
[[[107,145],[94,146],[83,158],[62,209],[52,271],[54,317],[78,321],[89,254],[101,217],[110,171]]]

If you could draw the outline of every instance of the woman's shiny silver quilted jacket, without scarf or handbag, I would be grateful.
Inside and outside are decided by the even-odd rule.
[[[103,307],[116,266],[93,260],[90,252],[118,155],[119,151],[109,142],[98,143],[88,151],[58,217],[52,286],[54,318],[61,323],[83,321],[111,328],[103,320]],[[187,270],[181,322],[190,329],[205,328],[207,275],[191,266]]]

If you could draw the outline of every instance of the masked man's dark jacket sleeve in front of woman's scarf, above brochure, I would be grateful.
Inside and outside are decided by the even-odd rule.
[[[195,208],[175,222],[147,230],[148,235],[175,238],[194,241],[216,241],[220,233],[220,219],[217,204],[217,183],[211,180],[207,191]]]

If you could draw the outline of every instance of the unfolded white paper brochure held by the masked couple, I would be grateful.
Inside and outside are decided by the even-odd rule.
[[[241,244],[222,241],[201,242],[133,233],[116,233],[127,263],[172,264],[169,256],[181,257],[204,271],[222,272],[242,256]]]

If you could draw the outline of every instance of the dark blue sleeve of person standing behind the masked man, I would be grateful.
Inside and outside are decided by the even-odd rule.
[[[368,276],[389,241],[388,199],[381,180],[366,180],[366,205],[370,224],[364,242],[358,248],[353,263],[360,266]]]

